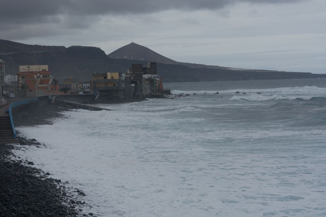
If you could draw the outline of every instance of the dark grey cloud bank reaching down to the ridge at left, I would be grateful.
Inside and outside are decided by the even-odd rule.
[[[44,37],[63,34],[65,30],[88,29],[105,15],[150,14],[169,9],[217,10],[238,2],[297,1],[301,0],[5,0],[0,7],[0,38]]]

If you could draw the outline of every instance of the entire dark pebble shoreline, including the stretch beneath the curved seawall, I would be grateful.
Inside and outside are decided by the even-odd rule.
[[[56,118],[68,118],[60,112],[67,108],[43,106],[20,113],[15,126],[53,124]],[[19,134],[19,132],[18,132]],[[46,148],[36,139],[17,137],[20,145],[0,144],[0,216],[93,216],[83,213],[89,206],[86,194],[68,182],[51,178],[51,174],[34,167],[28,159],[16,156],[12,150],[25,150],[30,146]]]

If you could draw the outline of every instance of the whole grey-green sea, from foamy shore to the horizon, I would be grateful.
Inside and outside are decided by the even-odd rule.
[[[47,147],[15,154],[83,190],[96,216],[326,216],[326,79],[164,88],[190,96],[18,127]]]

